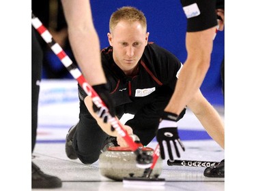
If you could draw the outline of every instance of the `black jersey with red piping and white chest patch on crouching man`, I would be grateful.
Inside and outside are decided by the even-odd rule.
[[[101,52],[102,66],[107,84],[115,106],[145,99],[150,94],[157,94],[163,88],[174,91],[177,73],[182,67],[171,52],[160,46],[149,43],[145,46],[143,56],[139,60],[137,75],[128,77],[113,60],[113,48],[104,48]]]

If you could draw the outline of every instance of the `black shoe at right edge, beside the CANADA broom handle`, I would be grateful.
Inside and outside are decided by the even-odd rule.
[[[221,160],[217,166],[206,168],[203,175],[205,177],[225,177],[225,160]]]

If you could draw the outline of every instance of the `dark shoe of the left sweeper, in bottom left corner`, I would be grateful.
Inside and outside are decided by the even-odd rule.
[[[61,179],[52,175],[46,175],[32,162],[32,188],[60,188]]]

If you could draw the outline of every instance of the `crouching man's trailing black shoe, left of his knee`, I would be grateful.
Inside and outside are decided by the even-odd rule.
[[[68,156],[68,158],[70,158],[72,160],[75,160],[78,158],[78,156],[76,155],[76,152],[74,151],[74,147],[72,144],[75,132],[76,132],[76,125],[72,126],[70,128],[70,130],[68,131],[68,134],[66,136],[66,145],[65,145],[66,155]]]

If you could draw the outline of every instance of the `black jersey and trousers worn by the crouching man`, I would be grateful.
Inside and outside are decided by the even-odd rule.
[[[182,63],[171,52],[156,44],[147,44],[139,60],[137,74],[128,77],[113,60],[113,48],[104,48],[101,52],[102,67],[106,75],[109,93],[115,105],[115,116],[121,119],[124,114],[133,114],[125,122],[132,127],[143,145],[156,137],[160,112],[169,103],[177,82],[177,73]],[[98,150],[106,140],[96,120],[89,114],[84,103],[85,91],[79,86],[79,133],[74,136],[75,148],[79,144],[79,158],[84,163],[98,160]],[[183,109],[178,120],[184,116]],[[95,136],[97,141],[95,141]],[[90,143],[95,142],[93,145]],[[89,147],[88,147],[89,145]],[[80,149],[81,148],[81,149]],[[89,161],[89,162],[87,162]]]

